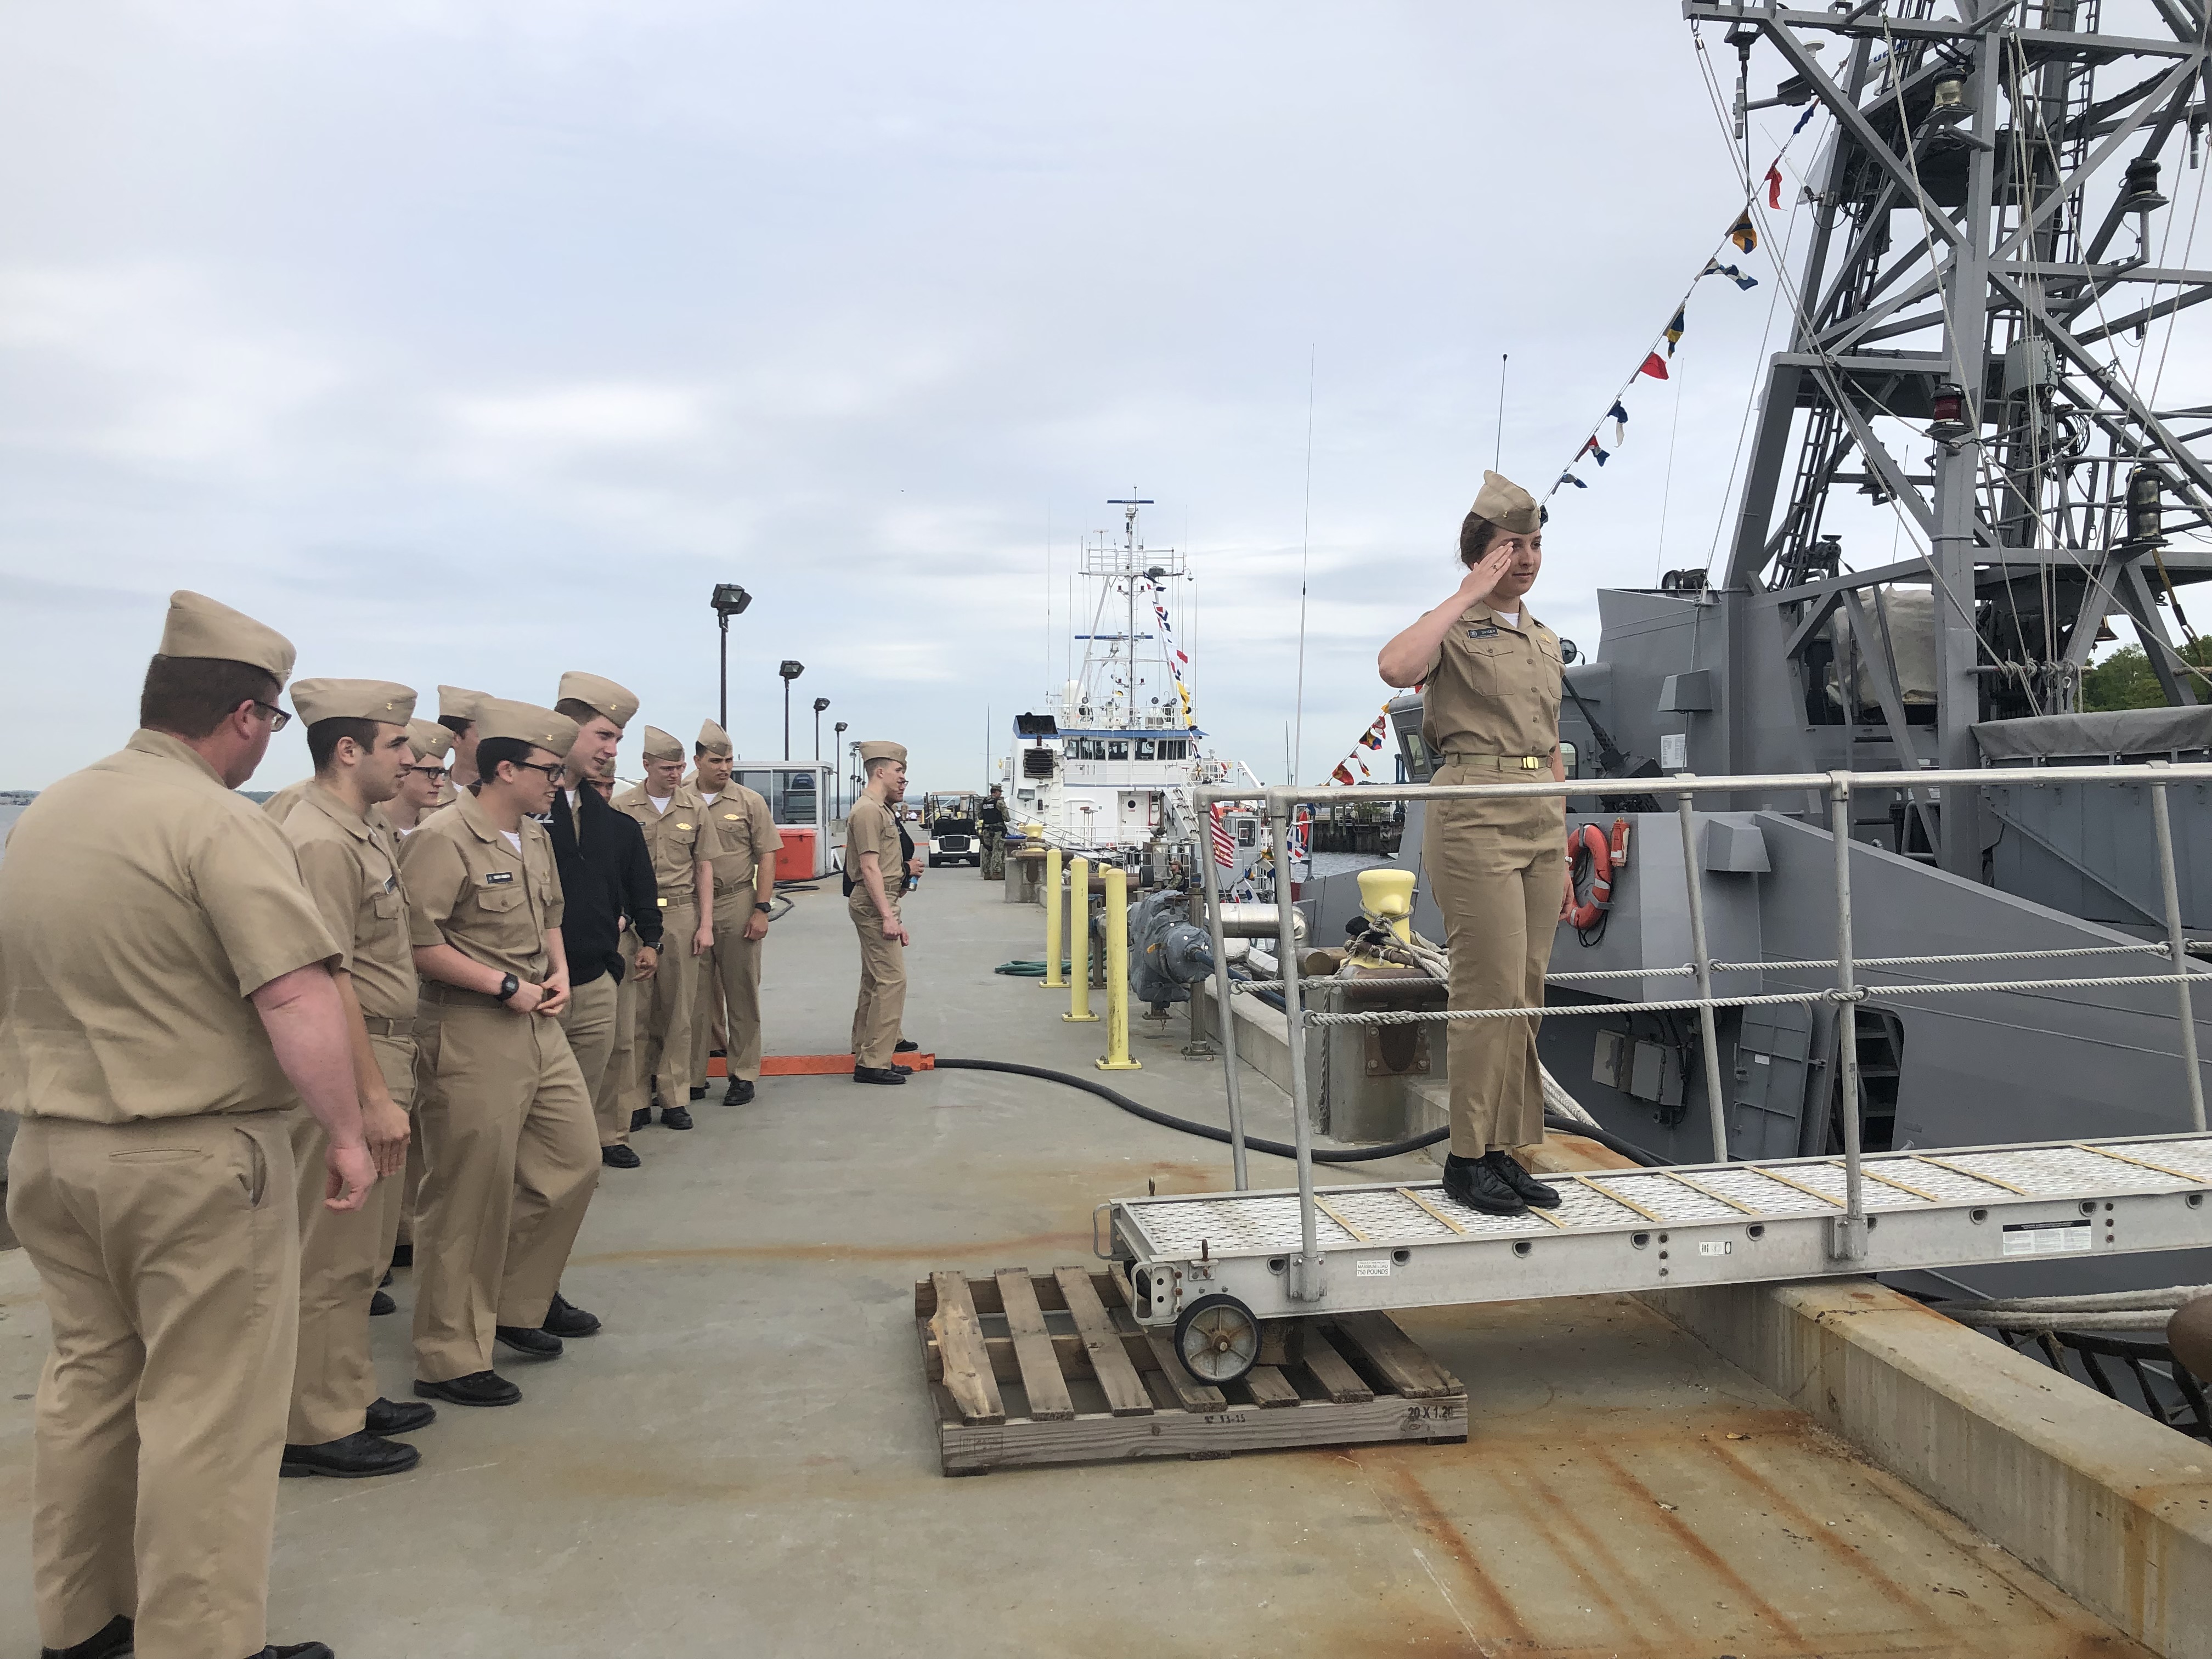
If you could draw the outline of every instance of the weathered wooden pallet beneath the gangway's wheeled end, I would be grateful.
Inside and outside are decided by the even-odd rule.
[[[947,1475],[1276,1447],[1467,1440],[1467,1385],[1385,1314],[1270,1321],[1261,1363],[1214,1389],[1088,1267],[914,1285]],[[1009,1402],[1011,1400],[1011,1402]]]

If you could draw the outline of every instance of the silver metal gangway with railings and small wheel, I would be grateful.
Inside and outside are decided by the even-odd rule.
[[[1546,1009],[1444,1009],[1321,1013],[1301,1002],[1296,914],[1279,905],[1276,960],[1281,980],[1232,980],[1221,894],[1210,856],[1199,858],[1214,947],[1221,1060],[1230,1113],[1232,1192],[1115,1199],[1102,1203],[1110,1256],[1128,1276],[1139,1325],[1175,1327],[1183,1365],[1203,1383],[1243,1376],[1259,1358],[1263,1318],[1345,1314],[1451,1303],[1590,1296],[1608,1292],[1683,1290],[1781,1279],[1964,1267],[2068,1252],[2188,1250],[2212,1245],[2212,1135],[2205,1133],[2203,1079],[2190,940],[2181,925],[2168,790],[2212,783],[2212,765],[2101,765],[2039,770],[1918,772],[1913,790],[1971,790],[2022,783],[2148,785],[2166,898],[2163,945],[2106,945],[2073,951],[1982,951],[1918,958],[1854,958],[1851,949],[1851,792],[1896,790],[1896,772],[1807,772],[1767,776],[1637,779],[1641,794],[1672,794],[1683,836],[1683,872],[1694,960],[1672,969],[1562,973],[1555,980],[1668,978],[1694,980],[1697,995],[1644,1002],[1593,1002]],[[1586,796],[1588,779],[1526,783],[1360,785],[1363,801],[1475,801]],[[1705,945],[1703,872],[1697,858],[1692,801],[1699,794],[1809,792],[1827,796],[1836,847],[1836,956],[1809,962],[1714,962]],[[1292,812],[1318,792],[1298,787],[1194,790],[1199,807],[1217,801],[1263,801],[1276,852],[1287,869]],[[2192,1130],[2128,1139],[2081,1139],[2024,1146],[1880,1152],[1860,1148],[1858,1033],[1838,1020],[1838,1088],[1845,1102],[1843,1157],[1719,1161],[1668,1168],[1548,1175],[1562,1188],[1557,1210],[1498,1217],[1444,1197],[1440,1181],[1385,1181],[1314,1190],[1312,1119],[1307,1113],[1301,1033],[1332,1024],[1413,1024],[1455,1020],[1575,1018],[1630,1011],[1694,1011],[1701,1029],[1705,1102],[1712,1144],[1728,1146],[1717,1009],[1834,1002],[1867,998],[1858,971],[1871,967],[1986,964],[2150,953],[2163,973],[2093,978],[1955,980],[1885,984],[1889,995],[2055,991],[2168,984],[2181,1029]],[[1719,995],[1714,975],[1730,967],[1834,969],[1836,982],[1814,991]],[[1398,982],[1407,984],[1407,982]],[[1433,984],[1433,980],[1429,982]],[[1194,995],[1203,987],[1192,987]],[[1245,1168],[1243,1095],[1237,1020],[1230,998],[1281,991],[1290,1022],[1290,1095],[1298,1183],[1252,1190]]]

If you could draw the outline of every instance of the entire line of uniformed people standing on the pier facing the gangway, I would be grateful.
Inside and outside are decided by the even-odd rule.
[[[646,781],[608,801],[637,712],[611,679],[564,675],[553,708],[440,688],[436,726],[405,686],[307,679],[314,779],[259,812],[237,790],[292,664],[173,595],[139,730],[0,863],[9,1221],[53,1327],[33,1593],[64,1659],[327,1659],[268,1644],[279,1471],[407,1469],[389,1436],[422,1400],[520,1400],[493,1345],[599,1329],[568,1250],[655,1102],[690,1126],[717,1004],[728,1099],[759,1077],[779,834],[721,728],[688,785],[646,728]],[[905,752],[863,759],[854,1075],[905,1082]],[[367,1343],[403,1223],[411,1402],[376,1398]]]

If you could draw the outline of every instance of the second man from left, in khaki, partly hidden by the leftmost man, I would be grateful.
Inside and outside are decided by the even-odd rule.
[[[312,1115],[292,1117],[299,1365],[283,1473],[396,1475],[414,1469],[422,1453],[387,1436],[422,1429],[436,1416],[420,1400],[378,1398],[369,1360],[369,1298],[392,1261],[400,1223],[416,1015],[398,836],[376,807],[398,794],[414,765],[407,739],[414,690],[380,679],[303,679],[292,688],[292,706],[307,721],[314,783],[283,830],[307,896],[338,942],[332,980],[345,1009],[361,1126],[378,1181],[358,1210],[323,1208],[327,1137]]]

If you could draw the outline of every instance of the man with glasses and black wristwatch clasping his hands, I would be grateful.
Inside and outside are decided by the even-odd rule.
[[[575,721],[476,706],[478,785],[400,845],[414,962],[422,1192],[416,1199],[416,1394],[513,1405],[502,1343],[557,1358],[544,1329],[599,1179],[591,1093],[560,1029],[564,898],[544,818]]]

